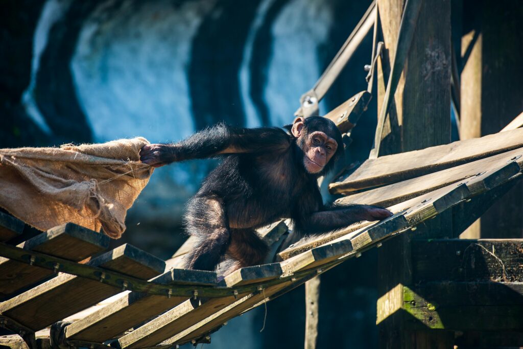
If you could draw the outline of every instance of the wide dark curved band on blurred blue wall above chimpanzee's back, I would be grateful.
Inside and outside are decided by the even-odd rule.
[[[245,125],[238,74],[259,0],[217,3],[192,42],[189,86],[196,128],[227,119]]]

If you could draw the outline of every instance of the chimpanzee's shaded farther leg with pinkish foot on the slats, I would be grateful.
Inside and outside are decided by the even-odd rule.
[[[233,258],[225,275],[246,266],[263,264],[269,247],[254,229],[231,229],[231,244],[227,255]]]

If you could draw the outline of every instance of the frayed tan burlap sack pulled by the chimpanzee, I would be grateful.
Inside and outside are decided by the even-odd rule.
[[[40,230],[73,222],[118,239],[153,173],[145,138],[60,148],[0,149],[0,206]]]

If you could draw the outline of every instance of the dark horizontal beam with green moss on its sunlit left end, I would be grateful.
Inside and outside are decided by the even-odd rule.
[[[427,283],[403,287],[409,328],[520,331],[523,283]]]

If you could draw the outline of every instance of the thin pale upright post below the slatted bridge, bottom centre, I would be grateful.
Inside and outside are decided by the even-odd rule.
[[[316,349],[318,338],[318,310],[320,276],[305,283],[305,349]]]

